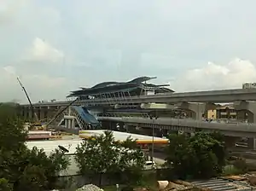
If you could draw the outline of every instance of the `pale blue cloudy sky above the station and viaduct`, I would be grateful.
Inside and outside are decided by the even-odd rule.
[[[64,100],[102,81],[176,91],[256,81],[255,0],[1,0],[0,101]]]

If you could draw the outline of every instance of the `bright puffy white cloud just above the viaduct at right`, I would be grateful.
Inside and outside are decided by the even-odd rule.
[[[176,91],[240,89],[243,83],[256,82],[256,67],[251,61],[234,59],[220,65],[209,62],[206,66],[184,71],[171,87]]]

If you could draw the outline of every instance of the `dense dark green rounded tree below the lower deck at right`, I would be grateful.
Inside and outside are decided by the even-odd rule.
[[[177,178],[215,177],[225,165],[223,136],[196,132],[195,136],[170,135],[166,166]]]

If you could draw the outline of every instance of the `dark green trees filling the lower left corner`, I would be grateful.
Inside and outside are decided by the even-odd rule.
[[[25,141],[23,121],[15,110],[0,107],[0,177],[11,182],[18,191],[53,188],[55,177],[67,168],[69,160],[59,150],[49,156],[38,148],[29,150]],[[1,185],[4,186],[3,180]]]

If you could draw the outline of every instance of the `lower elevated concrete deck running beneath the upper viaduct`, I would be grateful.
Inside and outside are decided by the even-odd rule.
[[[195,119],[143,119],[135,117],[98,117],[98,120],[109,120],[115,122],[123,122],[125,124],[137,125],[141,127],[155,127],[167,130],[183,130],[186,132],[195,132],[198,130],[220,130],[226,136],[238,136],[238,137],[255,137],[256,136],[256,124],[236,123],[213,123],[207,121],[199,121]]]

